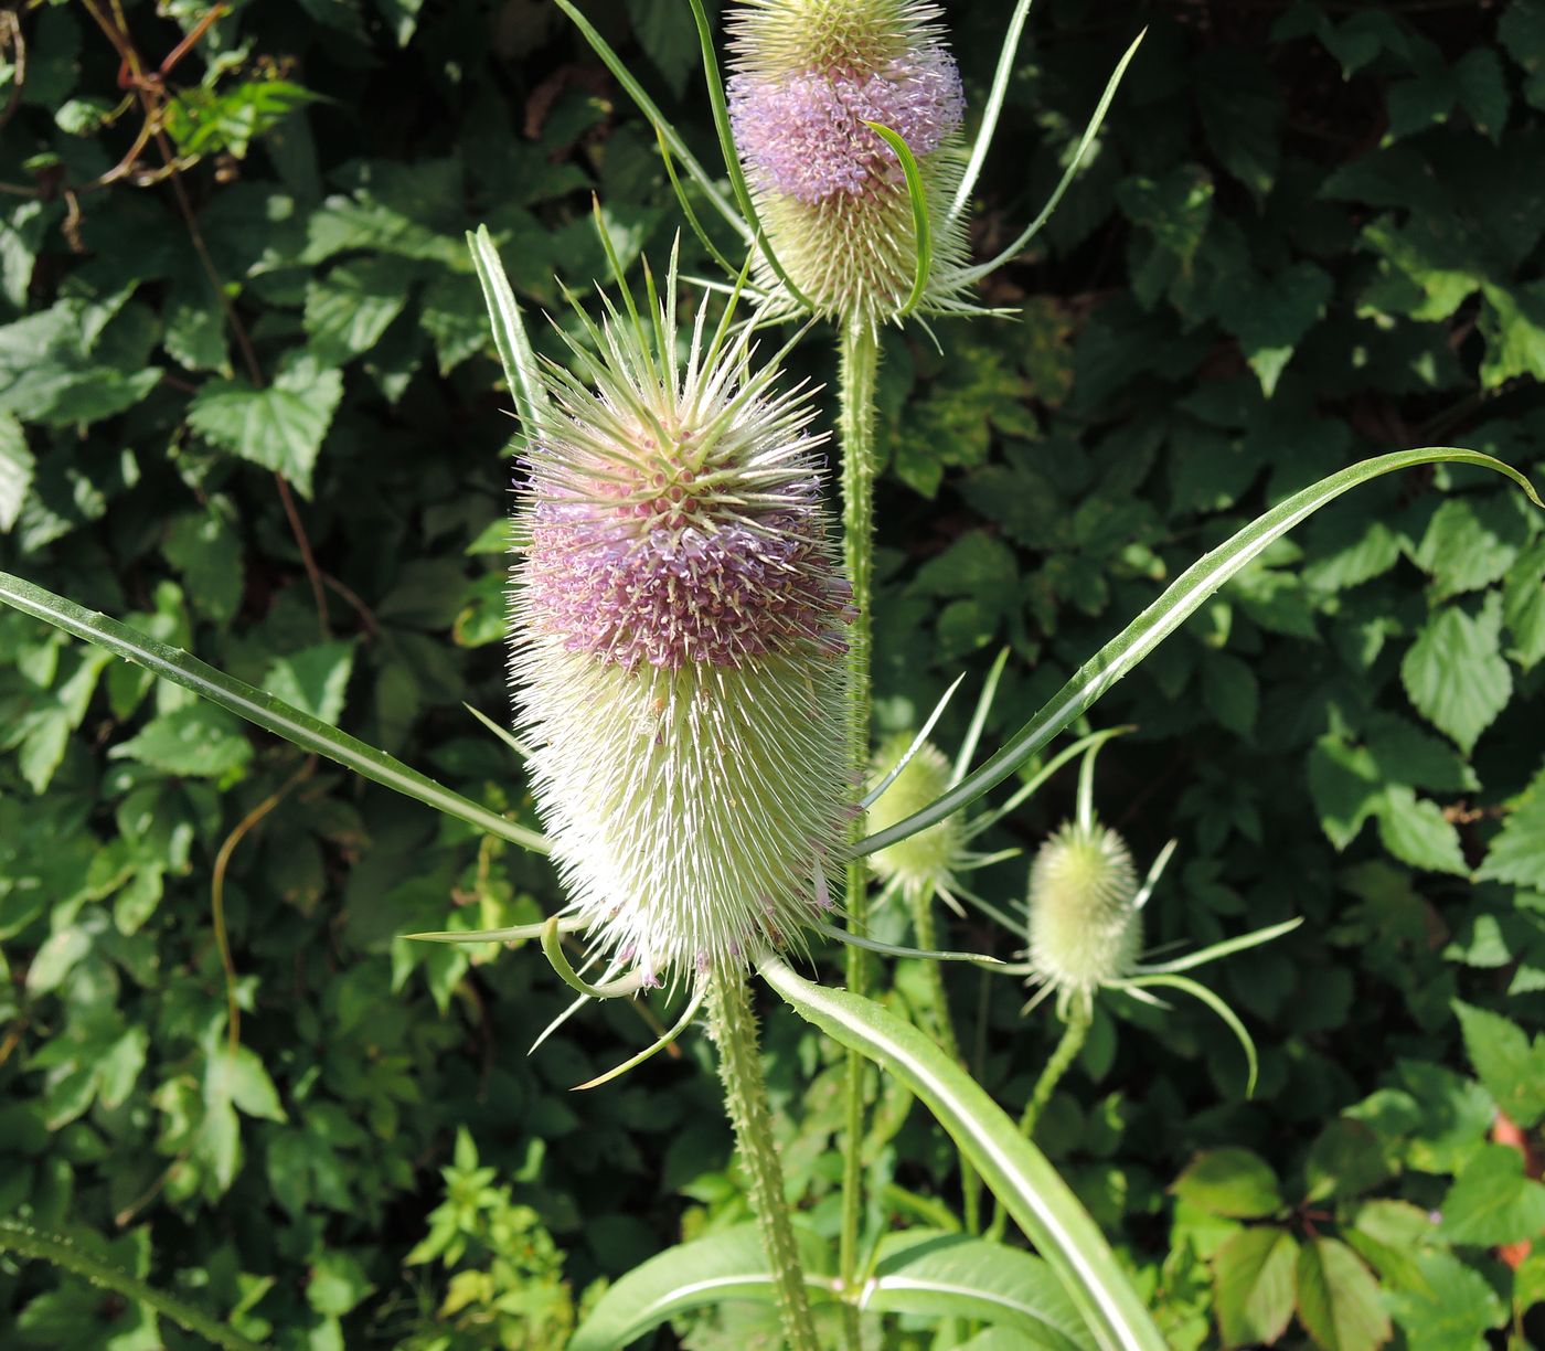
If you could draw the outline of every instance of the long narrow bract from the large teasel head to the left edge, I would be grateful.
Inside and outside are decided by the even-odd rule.
[[[170,680],[173,685],[192,689],[210,703],[218,703],[238,717],[256,723],[264,731],[294,742],[304,751],[314,751],[318,756],[326,756],[329,761],[337,761],[345,768],[354,770],[354,773],[366,779],[385,784],[388,788],[394,788],[408,798],[416,798],[425,805],[443,812],[447,816],[454,816],[457,821],[465,821],[468,825],[476,825],[479,830],[497,835],[501,839],[508,839],[522,849],[547,853],[547,841],[535,830],[527,830],[524,825],[505,821],[487,807],[479,807],[460,793],[453,793],[442,784],[436,784],[426,774],[408,768],[408,765],[386,754],[386,751],[338,731],[335,727],[329,727],[309,713],[301,713],[283,699],[275,699],[266,689],[258,689],[227,676],[224,671],[216,671],[213,666],[199,662],[196,657],[190,657],[179,648],[170,648],[148,634],[142,634],[139,629],[88,611],[71,600],[65,600],[62,595],[54,595],[51,590],[43,590],[43,587],[32,586],[32,583],[23,581],[20,577],[12,577],[8,572],[0,572],[0,601],[54,624],[66,634],[74,634],[77,638],[85,638],[99,648],[107,648],[113,655],[122,657],[125,662],[133,662],[136,666],[144,666],[162,680]]]

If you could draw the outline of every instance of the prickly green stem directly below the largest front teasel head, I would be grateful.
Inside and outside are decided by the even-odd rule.
[[[819,1351],[810,1297],[799,1264],[799,1247],[783,1195],[783,1166],[772,1142],[772,1113],[757,1051],[757,1020],[751,1011],[745,972],[720,968],[709,977],[708,1029],[718,1046],[718,1077],[725,1107],[735,1127],[740,1159],[751,1178],[751,1209],[762,1226],[762,1246],[777,1291],[783,1337],[789,1351]]]

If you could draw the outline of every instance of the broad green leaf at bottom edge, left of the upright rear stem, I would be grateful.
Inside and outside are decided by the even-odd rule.
[[[825,1244],[799,1227],[794,1238],[811,1302],[831,1300],[830,1280],[813,1275],[830,1266]],[[774,1300],[772,1275],[756,1224],[669,1247],[630,1271],[601,1295],[569,1351],[616,1351],[675,1314],[725,1300],[768,1305]]]

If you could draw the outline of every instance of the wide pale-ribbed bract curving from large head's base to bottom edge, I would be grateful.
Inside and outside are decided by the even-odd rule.
[[[765,955],[763,978],[802,1017],[921,1097],[1037,1251],[1105,1351],[1163,1351],[1163,1339],[1109,1244],[1046,1156],[976,1082],[915,1026],[873,1000],[813,985]]]

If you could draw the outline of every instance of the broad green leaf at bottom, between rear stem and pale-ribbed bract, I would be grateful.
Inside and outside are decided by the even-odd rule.
[[[865,1283],[864,1308],[995,1323],[1015,1328],[1031,1346],[1054,1351],[1095,1345],[1044,1261],[961,1234],[908,1229],[887,1235]]]

